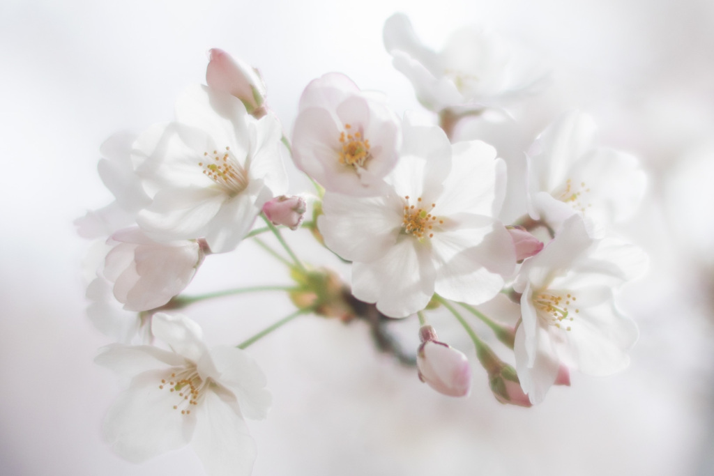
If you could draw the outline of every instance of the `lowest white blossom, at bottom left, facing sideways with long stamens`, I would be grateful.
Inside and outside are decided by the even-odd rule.
[[[95,360],[131,378],[104,419],[106,441],[131,462],[190,442],[208,475],[249,475],[256,448],[243,419],[264,418],[271,402],[258,365],[237,348],[209,350],[182,315],[156,313],[151,331],[171,350],[113,344]]]

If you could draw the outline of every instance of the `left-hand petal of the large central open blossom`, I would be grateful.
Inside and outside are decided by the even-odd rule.
[[[318,228],[325,244],[346,260],[376,260],[396,243],[403,210],[393,198],[326,193],[322,208]]]

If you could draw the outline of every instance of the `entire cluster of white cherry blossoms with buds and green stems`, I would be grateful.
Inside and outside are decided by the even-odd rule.
[[[523,407],[570,385],[574,370],[610,375],[628,365],[638,329],[615,298],[643,274],[646,257],[613,225],[645,193],[638,161],[598,145],[593,120],[578,111],[508,161],[484,141],[457,140],[461,121],[509,114],[547,87],[548,72],[475,27],[456,31],[441,51],[421,44],[403,14],[383,34],[438,123],[399,117],[385,96],[331,73],[306,86],[286,134],[258,71],[213,49],[206,85],[178,98],[173,121],[101,147],[99,174],[115,201],[76,223],[98,239],[87,258],[89,317],[116,342],[96,362],[131,378],[104,422],[107,442],[127,460],[190,443],[208,474],[248,475],[256,447],[244,419],[265,417],[271,395],[245,349],[303,315],[413,320],[417,349],[382,350],[451,397],[469,394],[472,360],[499,401]],[[289,160],[313,191],[288,195]],[[524,199],[513,200],[513,190]],[[506,201],[516,203],[516,220],[504,221],[514,216],[513,206],[503,212]],[[350,263],[351,278],[300,256],[284,236],[293,232],[311,233]],[[211,348],[177,313],[211,295],[183,290],[204,259],[243,240],[286,263],[295,285],[274,290],[296,309],[236,347]],[[501,300],[518,308],[515,322],[483,311]],[[475,353],[438,340],[431,313],[452,315]],[[499,357],[495,340],[511,355]]]

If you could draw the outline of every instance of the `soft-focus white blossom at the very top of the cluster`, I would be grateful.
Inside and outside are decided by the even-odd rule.
[[[545,77],[523,49],[475,26],[455,31],[439,52],[421,43],[404,14],[387,19],[383,37],[394,67],[411,81],[423,106],[435,112],[501,106],[533,91]]]

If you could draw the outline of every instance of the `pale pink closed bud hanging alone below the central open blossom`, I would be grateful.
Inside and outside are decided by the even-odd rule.
[[[424,331],[428,328],[428,331]],[[436,390],[450,397],[466,397],[471,390],[471,366],[466,355],[452,348],[451,345],[438,342],[436,333],[430,326],[420,330],[425,340],[416,353],[416,366],[419,379]]]

